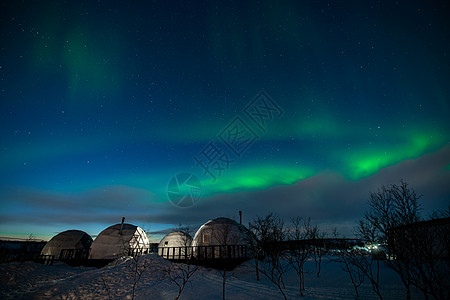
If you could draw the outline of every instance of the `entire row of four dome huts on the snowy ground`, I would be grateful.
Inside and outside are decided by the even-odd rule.
[[[61,232],[47,242],[41,255],[62,260],[113,260],[149,251],[150,242],[144,230],[122,219],[122,223],[106,228],[95,240],[80,230]],[[185,232],[174,231],[158,244],[158,254],[173,260],[244,258],[249,256],[248,251],[247,229],[224,217],[203,224],[193,238]]]

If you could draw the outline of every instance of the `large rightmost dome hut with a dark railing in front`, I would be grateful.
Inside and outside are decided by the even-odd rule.
[[[248,231],[229,218],[216,218],[203,224],[192,240],[197,258],[238,258],[249,255]]]

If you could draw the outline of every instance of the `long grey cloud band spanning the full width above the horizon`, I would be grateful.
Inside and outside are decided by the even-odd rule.
[[[445,209],[449,205],[450,147],[414,160],[380,170],[377,174],[352,181],[333,172],[323,172],[293,185],[266,190],[218,194],[199,201],[188,209],[166,202],[154,202],[157,197],[143,189],[128,186],[108,186],[81,193],[65,194],[16,188],[7,193],[9,200],[31,206],[32,214],[0,213],[1,222],[28,224],[110,224],[127,220],[136,224],[169,224],[168,229],[155,230],[166,234],[180,224],[197,227],[209,219],[227,216],[238,220],[243,211],[244,224],[257,215],[274,212],[286,219],[292,216],[311,217],[328,229],[336,226],[346,235],[367,208],[371,191],[382,185],[405,180],[417,193],[425,213]],[[217,184],[220,184],[218,181]],[[159,199],[158,199],[159,200]],[[170,225],[172,224],[172,226]]]

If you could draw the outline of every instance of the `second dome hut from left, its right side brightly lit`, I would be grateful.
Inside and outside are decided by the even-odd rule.
[[[148,253],[150,242],[142,228],[122,223],[112,225],[95,238],[90,259],[115,259],[126,255]]]

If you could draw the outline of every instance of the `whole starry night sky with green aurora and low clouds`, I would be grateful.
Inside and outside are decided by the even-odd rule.
[[[126,216],[156,240],[239,210],[349,234],[369,193],[401,179],[424,215],[445,210],[449,13],[439,0],[2,1],[0,236],[96,235]],[[201,187],[180,187],[190,207],[168,194],[183,172]]]

